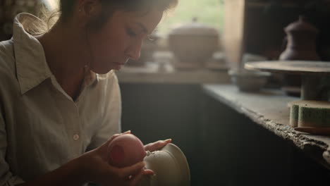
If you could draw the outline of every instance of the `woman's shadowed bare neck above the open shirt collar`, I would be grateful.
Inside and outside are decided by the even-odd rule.
[[[82,32],[57,23],[46,34],[37,37],[44,48],[51,73],[63,90],[73,99],[78,97],[85,76],[89,54]]]

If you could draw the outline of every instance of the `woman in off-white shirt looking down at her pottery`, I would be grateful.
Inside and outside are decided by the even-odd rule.
[[[108,164],[107,146],[121,117],[112,70],[139,58],[142,40],[176,4],[61,0],[59,20],[42,35],[36,35],[40,20],[16,17],[13,38],[0,43],[1,186],[136,185],[142,175],[152,176],[143,162]]]

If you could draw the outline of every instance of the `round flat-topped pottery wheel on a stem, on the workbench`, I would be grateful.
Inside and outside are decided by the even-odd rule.
[[[302,75],[301,99],[320,100],[321,79],[330,76],[330,62],[322,61],[258,61],[245,63],[245,68],[271,73]]]

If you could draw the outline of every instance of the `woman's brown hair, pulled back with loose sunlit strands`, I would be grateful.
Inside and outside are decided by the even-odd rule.
[[[77,0],[59,0],[58,11],[54,13],[42,11],[41,17],[44,21],[27,25],[26,31],[30,32],[31,35],[41,35],[47,32],[56,22],[65,23],[73,16],[77,2]],[[178,4],[178,0],[99,0],[99,2],[102,4],[102,13],[90,23],[90,27],[94,29],[102,27],[116,10],[147,13],[152,8],[157,8],[159,11],[166,13]]]

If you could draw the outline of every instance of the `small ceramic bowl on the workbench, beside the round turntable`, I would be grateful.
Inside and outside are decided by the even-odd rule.
[[[258,92],[267,83],[271,73],[252,70],[229,70],[231,82],[243,92]]]

